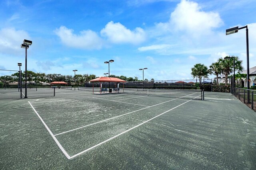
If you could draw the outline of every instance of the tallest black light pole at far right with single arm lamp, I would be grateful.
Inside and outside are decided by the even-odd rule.
[[[244,27],[234,27],[230,29],[226,29],[226,35],[237,33],[239,29],[246,28],[246,59],[247,59],[247,101],[250,102],[250,95],[249,95],[249,89],[250,89],[250,76],[249,76],[249,38],[248,38],[248,27],[247,25]]]

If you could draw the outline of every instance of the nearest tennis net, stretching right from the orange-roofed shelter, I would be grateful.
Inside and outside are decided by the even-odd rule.
[[[120,88],[120,92],[123,92],[125,94],[142,95],[142,96],[204,100],[203,90],[162,90],[162,89]]]

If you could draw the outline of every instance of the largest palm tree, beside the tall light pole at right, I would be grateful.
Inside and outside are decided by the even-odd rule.
[[[242,66],[242,60],[238,60],[237,56],[226,56],[226,57],[235,57],[235,71],[241,72],[244,70],[244,67]],[[225,85],[228,84],[228,75],[233,72],[234,70],[234,59],[222,59],[219,58],[218,62],[220,63],[220,67],[222,69],[222,72],[225,74]]]

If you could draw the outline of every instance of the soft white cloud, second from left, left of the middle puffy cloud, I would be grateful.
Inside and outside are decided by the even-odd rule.
[[[79,35],[74,34],[73,29],[61,26],[54,31],[66,46],[80,49],[101,49],[103,45],[102,39],[96,32],[88,29],[80,31]]]

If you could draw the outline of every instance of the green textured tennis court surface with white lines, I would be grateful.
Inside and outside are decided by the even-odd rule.
[[[256,169],[256,113],[229,93],[66,89],[0,100],[1,169]]]

